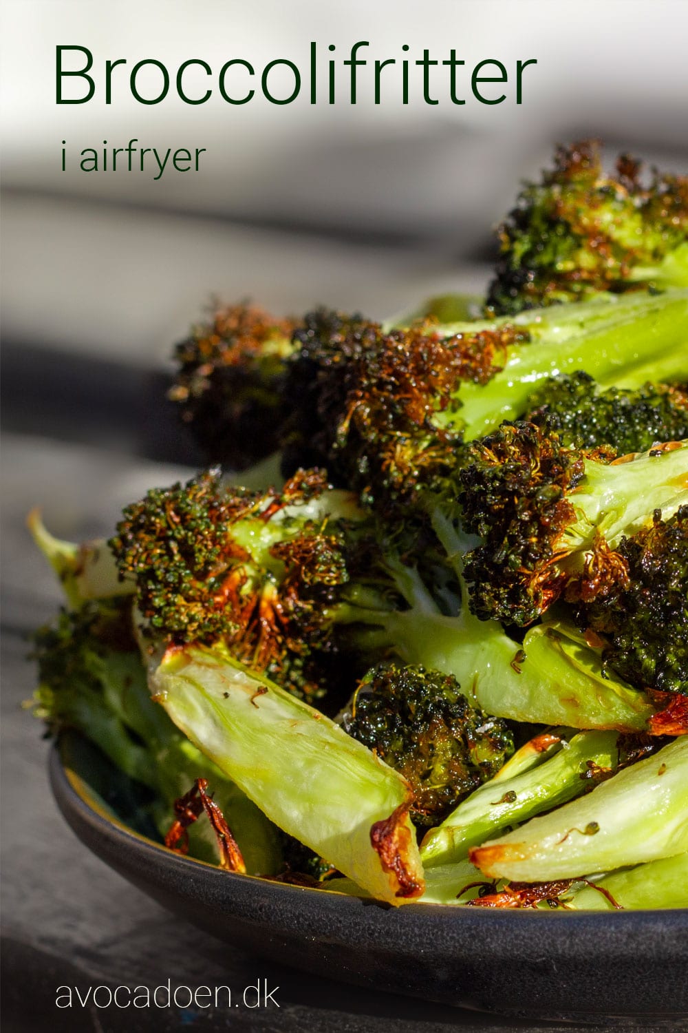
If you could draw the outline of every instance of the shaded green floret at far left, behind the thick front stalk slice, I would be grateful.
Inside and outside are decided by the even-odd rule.
[[[73,728],[95,743],[130,778],[153,793],[150,811],[161,836],[174,803],[198,778],[208,781],[230,822],[245,869],[269,875],[282,855],[276,831],[261,811],[197,749],[151,698],[134,641],[131,599],[86,602],[63,611],[34,635],[39,685],[35,711],[53,734]],[[209,825],[191,833],[194,856],[218,860]]]

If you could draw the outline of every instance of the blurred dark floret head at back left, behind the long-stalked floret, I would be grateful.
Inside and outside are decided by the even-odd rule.
[[[279,447],[294,325],[233,305],[177,344],[169,399],[210,462],[243,469]]]

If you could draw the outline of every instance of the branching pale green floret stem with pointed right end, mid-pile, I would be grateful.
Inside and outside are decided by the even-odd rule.
[[[531,628],[522,641],[498,621],[471,614],[461,572],[461,540],[452,522],[433,514],[437,536],[451,558],[455,583],[440,601],[417,567],[373,551],[360,572],[335,592],[324,612],[330,634],[362,658],[397,657],[452,675],[476,706],[497,717],[539,724],[643,730],[653,714],[647,695],[621,679],[602,676],[599,656],[575,625]]]

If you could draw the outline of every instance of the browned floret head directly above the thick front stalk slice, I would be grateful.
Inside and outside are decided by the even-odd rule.
[[[362,520],[353,496],[299,471],[281,492],[226,484],[216,470],[155,489],[124,510],[109,545],[153,639],[224,645],[304,697],[323,608],[348,578],[346,532]]]

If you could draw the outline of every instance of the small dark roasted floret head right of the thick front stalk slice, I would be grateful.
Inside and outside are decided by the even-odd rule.
[[[472,707],[451,675],[383,663],[359,685],[345,729],[406,779],[412,820],[432,827],[514,752],[503,721]]]

